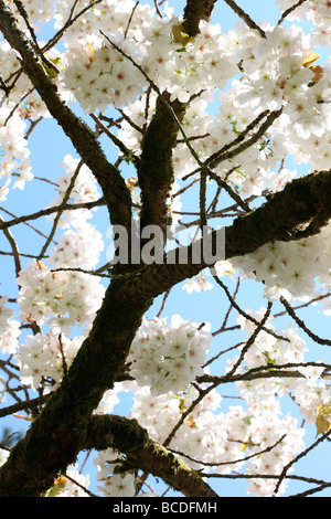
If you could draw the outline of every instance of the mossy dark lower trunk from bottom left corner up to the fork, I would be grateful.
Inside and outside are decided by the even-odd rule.
[[[61,386],[0,467],[0,497],[43,495],[85,448],[86,423],[105,391],[114,385],[151,304],[119,294],[124,282],[111,282]]]

